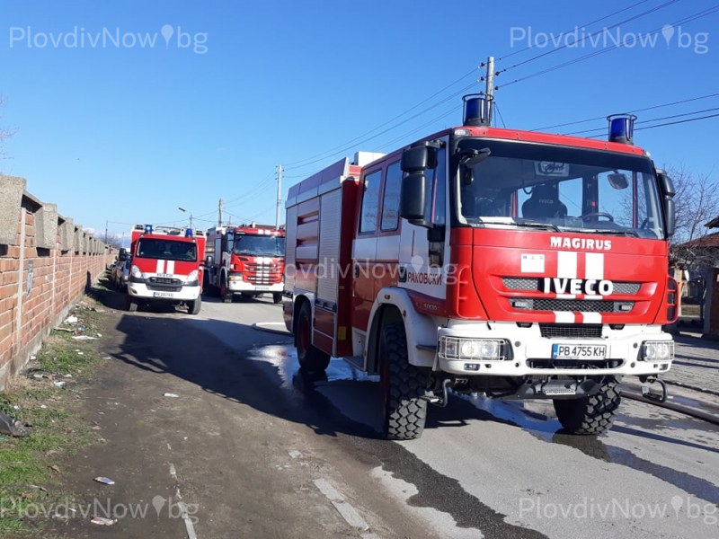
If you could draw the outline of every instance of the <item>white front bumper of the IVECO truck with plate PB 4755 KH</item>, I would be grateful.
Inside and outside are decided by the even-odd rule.
[[[439,346],[435,369],[458,376],[643,376],[670,370],[673,340],[660,326],[626,325],[621,330],[602,328],[600,338],[542,337],[537,323],[519,328],[515,323],[457,323],[440,328],[438,340],[502,340],[502,358],[484,359],[442,353]],[[666,343],[667,358],[644,359],[646,342]],[[555,359],[553,345],[599,346],[603,358]],[[457,357],[459,356],[459,357]]]

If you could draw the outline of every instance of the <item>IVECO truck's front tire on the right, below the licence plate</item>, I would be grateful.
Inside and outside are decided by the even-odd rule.
[[[582,399],[555,399],[556,417],[571,434],[596,435],[611,428],[622,402],[619,383],[611,378],[601,384],[599,393]]]

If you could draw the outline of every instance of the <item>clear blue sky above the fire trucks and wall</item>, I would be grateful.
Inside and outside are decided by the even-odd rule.
[[[234,223],[274,223],[276,165],[287,165],[286,192],[357,149],[387,152],[458,125],[460,96],[484,89],[477,82],[484,73],[475,68],[490,55],[497,70],[508,68],[495,83],[510,128],[719,93],[719,13],[675,24],[715,5],[2,0],[0,127],[16,132],[0,171],[26,178],[34,196],[98,232],[106,223],[113,234],[132,223],[186,224],[189,213],[178,207],[196,226],[209,227],[218,199]],[[633,17],[595,43],[537,57]],[[648,32],[670,24],[650,46]],[[617,40],[627,46],[524,79]],[[719,95],[637,114],[641,121],[708,110],[677,118],[690,119],[717,108]],[[715,117],[637,130],[635,143],[659,164],[716,178],[717,128]],[[315,155],[327,156],[291,164]]]

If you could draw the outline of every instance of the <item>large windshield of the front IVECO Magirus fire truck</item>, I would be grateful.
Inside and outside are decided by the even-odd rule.
[[[648,158],[480,139],[460,141],[457,155],[461,224],[664,237]]]

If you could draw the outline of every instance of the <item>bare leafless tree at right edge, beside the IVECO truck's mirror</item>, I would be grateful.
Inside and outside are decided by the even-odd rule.
[[[715,249],[703,245],[702,240],[712,233],[706,223],[719,216],[719,182],[712,178],[712,172],[698,175],[688,171],[684,164],[670,167],[668,173],[677,191],[676,233],[670,246],[672,262],[688,270],[705,270],[716,259]]]

